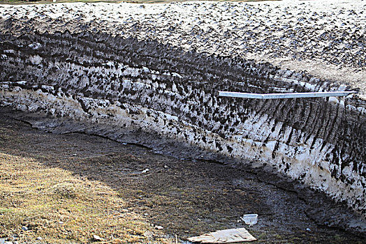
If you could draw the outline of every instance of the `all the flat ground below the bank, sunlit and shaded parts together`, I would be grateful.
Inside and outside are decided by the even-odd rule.
[[[175,243],[175,235],[184,242],[233,227],[246,227],[258,243],[365,241],[316,224],[308,212],[316,206],[265,178],[101,137],[42,132],[0,108],[0,238],[10,241],[86,243],[96,234],[104,243]],[[258,213],[258,224],[238,222],[245,213]]]

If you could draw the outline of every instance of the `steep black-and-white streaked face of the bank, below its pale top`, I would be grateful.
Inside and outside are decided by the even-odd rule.
[[[159,33],[154,39],[131,29],[127,37],[118,35],[104,20],[81,17],[76,23],[38,13],[0,19],[1,106],[33,113],[21,119],[51,132],[99,135],[177,158],[266,166],[344,202],[360,220],[343,227],[365,231],[363,87],[274,66],[275,61],[180,47],[160,41]],[[355,62],[365,72],[364,63]],[[358,95],[347,98],[218,97],[218,91],[355,89]]]

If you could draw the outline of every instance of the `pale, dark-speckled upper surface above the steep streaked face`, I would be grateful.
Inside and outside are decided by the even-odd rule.
[[[0,18],[3,33],[68,29],[154,39],[307,70],[366,91],[363,0],[3,5]]]

